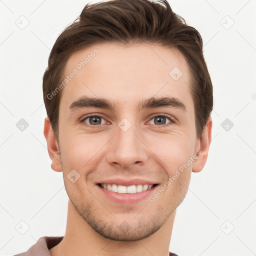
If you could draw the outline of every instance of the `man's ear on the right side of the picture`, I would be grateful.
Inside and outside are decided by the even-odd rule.
[[[212,119],[211,117],[208,117],[206,124],[203,128],[202,137],[199,140],[199,153],[197,155],[197,158],[193,162],[192,171],[193,172],[199,172],[203,169],[207,156],[208,156],[208,150],[211,142],[211,128],[212,128]]]

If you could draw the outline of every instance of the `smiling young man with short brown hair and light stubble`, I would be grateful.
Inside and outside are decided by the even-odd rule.
[[[51,50],[43,96],[66,232],[18,255],[176,255],[176,208],[211,140],[198,31],[163,0],[87,4]]]

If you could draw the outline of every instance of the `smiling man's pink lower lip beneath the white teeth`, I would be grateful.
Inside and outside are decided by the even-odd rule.
[[[150,194],[154,193],[155,189],[158,187],[158,185],[156,185],[149,190],[129,194],[129,193],[112,192],[99,185],[96,185],[96,186],[103,193],[105,197],[113,200],[116,203],[122,203],[122,204],[135,203],[145,198],[148,198]]]

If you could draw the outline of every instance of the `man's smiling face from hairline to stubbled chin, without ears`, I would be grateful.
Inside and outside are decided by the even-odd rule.
[[[105,43],[73,54],[65,68],[66,75],[71,72],[58,121],[66,192],[104,237],[145,238],[183,200],[199,161],[191,160],[199,140],[186,60],[178,50],[156,44]],[[143,191],[145,184],[154,186]]]

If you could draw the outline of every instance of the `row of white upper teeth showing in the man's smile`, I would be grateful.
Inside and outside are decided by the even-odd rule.
[[[117,193],[137,193],[141,191],[145,191],[150,189],[153,185],[152,184],[143,184],[143,185],[131,185],[131,186],[123,186],[123,185],[116,185],[116,184],[100,184],[103,188]]]

